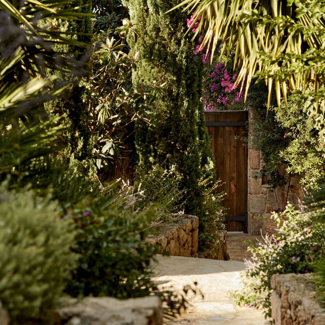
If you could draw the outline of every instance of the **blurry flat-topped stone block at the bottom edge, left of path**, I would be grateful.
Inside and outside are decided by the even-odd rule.
[[[162,303],[157,296],[119,300],[112,297],[69,299],[58,310],[68,324],[162,324]]]

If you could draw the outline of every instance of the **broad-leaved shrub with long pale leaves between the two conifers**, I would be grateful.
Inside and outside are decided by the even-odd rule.
[[[157,96],[162,95],[162,83],[152,80],[148,85],[132,85],[132,66],[137,61],[126,44],[127,34],[136,37],[137,30],[128,19],[123,19],[120,28],[94,35],[98,51],[91,56],[94,74],[90,79],[92,104],[88,125],[101,180],[114,175],[123,154],[130,154],[137,128],[154,123],[159,115]]]

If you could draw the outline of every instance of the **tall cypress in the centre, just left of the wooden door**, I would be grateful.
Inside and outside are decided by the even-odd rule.
[[[183,37],[188,16],[180,10],[164,15],[178,2],[123,1],[131,22],[138,24],[140,31],[136,42],[132,37],[128,39],[131,49],[139,51],[133,83],[166,83],[162,119],[154,126],[141,127],[136,134],[136,147],[140,169],[148,170],[155,164],[164,168],[177,165],[187,191],[186,212],[200,215],[202,194],[198,181],[212,153],[200,102],[202,63],[193,54],[191,36]]]

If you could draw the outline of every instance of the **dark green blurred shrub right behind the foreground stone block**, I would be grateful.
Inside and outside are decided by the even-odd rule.
[[[69,294],[125,299],[152,291],[149,265],[156,248],[148,247],[147,233],[138,231],[149,222],[148,212],[129,215],[101,197],[84,199],[65,218],[72,218],[82,230],[76,237],[80,258],[67,287]]]

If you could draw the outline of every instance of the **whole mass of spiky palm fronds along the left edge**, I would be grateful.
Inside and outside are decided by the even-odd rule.
[[[82,72],[84,64],[67,51],[56,52],[53,45],[79,46],[82,52],[86,44],[44,25],[79,19],[76,8],[61,10],[67,2],[0,0],[0,180],[11,175],[16,186],[32,181],[45,188],[53,184],[53,167],[61,178],[65,170],[53,166],[49,155],[60,149],[54,139],[66,129],[60,117],[48,119],[43,104],[67,86],[53,87],[57,76],[46,77],[45,68]]]

